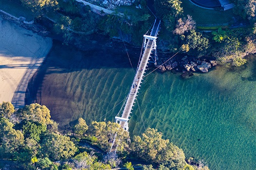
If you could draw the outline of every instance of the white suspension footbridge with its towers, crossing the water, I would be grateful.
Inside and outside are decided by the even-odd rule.
[[[130,117],[130,114],[132,113],[131,111],[133,110],[133,106],[134,106],[136,97],[138,96],[137,93],[138,93],[138,90],[140,89],[139,87],[141,86],[140,84],[142,83],[147,64],[149,64],[149,60],[152,59],[156,65],[157,38],[158,38],[157,35],[159,32],[159,28],[160,28],[160,22],[161,21],[159,19],[156,19],[155,23],[152,27],[150,35],[147,35],[147,34],[143,35],[143,37],[144,37],[144,39],[143,39],[143,49],[144,49],[143,55],[139,59],[139,64],[138,64],[136,74],[133,79],[133,83],[131,85],[129,94],[125,101],[122,116],[115,117],[116,123],[119,123],[121,128],[123,128],[126,131],[128,131],[129,117]],[[153,54],[152,51],[155,51],[154,56],[152,56],[152,54]],[[117,151],[119,141],[116,140],[116,136],[117,136],[117,134],[115,135],[115,137],[112,141],[110,153],[116,153],[116,151]]]

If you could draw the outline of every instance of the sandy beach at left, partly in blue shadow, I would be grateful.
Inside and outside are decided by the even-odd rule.
[[[28,81],[52,47],[52,40],[0,17],[0,102],[25,105]]]

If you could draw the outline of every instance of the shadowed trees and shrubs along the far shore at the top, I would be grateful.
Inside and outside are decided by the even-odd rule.
[[[131,37],[126,39],[127,41],[140,45],[141,35],[148,31],[155,19],[146,7],[145,0],[135,2],[140,4],[141,9],[134,6],[132,12],[131,8],[123,10],[123,17],[118,17],[118,12],[111,15],[101,13],[100,16],[93,13],[89,6],[75,0],[21,1],[37,16],[54,19],[54,30],[63,34],[66,44],[73,41],[74,34],[80,34],[82,39],[88,34],[98,33],[120,38],[123,38],[122,34],[126,34]],[[218,28],[221,26],[215,26],[211,34],[197,29],[197,21],[190,15],[183,15],[186,11],[182,7],[182,0],[155,0],[156,15],[162,20],[159,39],[169,44],[170,52],[181,50],[195,57],[215,57],[220,65],[240,66],[246,63],[244,56],[256,52],[255,2],[234,0],[234,3],[236,7],[233,18],[239,21],[232,22],[243,22],[247,25],[242,25],[241,28],[239,25],[236,26],[238,28],[225,26],[225,30],[221,30],[225,34],[218,34]]]

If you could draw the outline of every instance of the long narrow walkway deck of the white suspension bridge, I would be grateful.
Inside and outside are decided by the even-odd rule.
[[[160,26],[160,20],[156,19],[154,26],[152,28],[151,34],[150,34],[150,36],[155,37],[155,39],[157,38],[159,26]],[[132,107],[134,106],[135,99],[136,99],[141,81],[143,80],[143,74],[145,73],[145,70],[146,70],[146,67],[148,64],[148,60],[149,60],[149,57],[151,55],[153,48],[154,48],[154,39],[149,39],[146,43],[142,58],[139,61],[139,66],[137,68],[137,71],[136,71],[136,74],[135,74],[135,77],[133,80],[133,84],[131,85],[129,95],[128,95],[126,103],[125,103],[125,107],[124,107],[122,117],[121,117],[123,119],[129,119],[129,117],[130,117],[130,113],[131,113]],[[123,128],[123,129],[125,129],[126,123],[128,123],[128,122],[121,121],[121,120],[119,122],[121,128]],[[126,129],[126,130],[128,131],[128,129]],[[117,146],[118,146],[118,142],[116,141],[116,136],[115,136],[115,138],[112,142],[112,147],[111,147],[110,152],[115,152]]]

